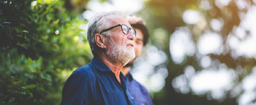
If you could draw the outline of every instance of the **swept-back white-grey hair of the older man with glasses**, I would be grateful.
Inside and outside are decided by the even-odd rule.
[[[109,15],[119,15],[124,19],[126,19],[126,15],[124,15],[123,12],[121,11],[100,12],[92,16],[92,18],[89,20],[88,31],[87,31],[87,41],[90,45],[93,55],[96,54],[95,49],[97,48],[97,44],[94,40],[94,35],[97,33],[100,33],[105,29],[110,28],[110,26],[112,25],[111,21],[106,20],[106,16],[109,16]],[[111,36],[109,31],[104,32],[104,35],[107,37]]]

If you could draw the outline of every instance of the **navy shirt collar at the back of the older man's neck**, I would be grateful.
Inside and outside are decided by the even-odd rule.
[[[101,70],[101,71],[112,71],[111,69],[109,69],[109,67],[103,62],[101,61],[101,59],[97,56],[94,56],[92,61],[90,62],[92,63],[95,68]]]

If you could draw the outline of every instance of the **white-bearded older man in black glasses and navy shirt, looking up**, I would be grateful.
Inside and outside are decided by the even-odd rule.
[[[121,69],[135,57],[136,31],[121,12],[102,12],[88,26],[92,61],[73,71],[62,90],[61,105],[136,105]]]

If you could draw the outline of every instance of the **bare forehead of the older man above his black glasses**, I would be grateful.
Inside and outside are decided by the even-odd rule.
[[[114,15],[108,15],[106,17],[106,19],[107,19],[107,21],[112,22],[112,26],[115,26],[115,25],[118,25],[118,24],[124,24],[128,27],[131,27],[129,22],[126,19],[124,19],[123,17],[119,16],[119,15],[115,15],[115,14]]]

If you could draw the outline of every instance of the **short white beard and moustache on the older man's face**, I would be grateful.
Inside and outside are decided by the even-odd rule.
[[[132,40],[126,40],[125,45],[133,43]],[[123,47],[114,42],[112,37],[109,39],[109,46],[105,53],[107,57],[111,58],[114,62],[126,65],[132,58],[135,57],[134,48],[130,46]]]

